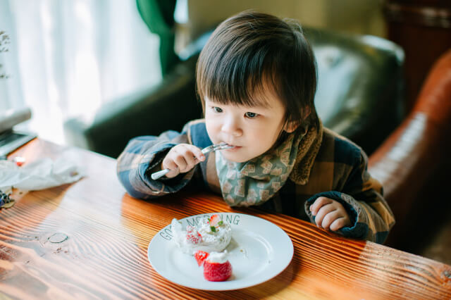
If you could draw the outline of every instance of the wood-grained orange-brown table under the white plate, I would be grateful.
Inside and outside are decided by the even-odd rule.
[[[35,139],[10,158],[61,155],[87,176],[37,192],[15,190],[16,205],[0,211],[0,298],[451,299],[450,265],[343,239],[285,215],[233,209],[210,194],[134,199],[116,178],[116,161],[82,149]],[[229,292],[182,287],[156,273],[147,259],[156,232],[172,218],[215,211],[256,215],[285,230],[295,249],[288,268]]]

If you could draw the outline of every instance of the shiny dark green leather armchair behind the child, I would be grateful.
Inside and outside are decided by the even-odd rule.
[[[138,0],[137,4],[143,20],[153,30],[149,23],[155,19],[147,18],[146,10],[154,7],[161,12],[161,7],[156,6],[161,1]],[[315,101],[323,124],[371,154],[402,118],[402,49],[379,37],[304,30],[318,63]],[[66,121],[67,142],[116,158],[132,137],[180,131],[187,121],[202,118],[194,73],[208,35],[186,49],[184,60],[162,56],[165,73],[159,85],[110,101],[89,123],[81,119]],[[173,38],[166,34],[160,37]]]

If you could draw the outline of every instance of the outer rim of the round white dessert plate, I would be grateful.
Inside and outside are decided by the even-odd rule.
[[[205,291],[228,291],[228,290],[235,290],[235,289],[245,289],[245,288],[247,288],[247,287],[253,287],[253,286],[255,286],[255,285],[260,285],[260,284],[262,284],[262,283],[264,283],[264,282],[267,282],[268,280],[271,280],[271,279],[273,279],[274,277],[278,276],[280,273],[283,272],[283,270],[285,270],[285,269],[288,267],[288,265],[290,265],[290,263],[291,263],[291,261],[292,261],[292,258],[293,258],[293,256],[294,256],[294,246],[293,246],[293,243],[292,243],[292,240],[291,240],[290,236],[287,234],[287,232],[285,232],[285,230],[283,230],[282,228],[280,228],[278,225],[276,225],[276,224],[272,223],[271,221],[266,220],[266,219],[264,219],[264,218],[260,218],[260,217],[257,217],[257,216],[255,216],[255,215],[250,215],[250,214],[246,214],[246,213],[234,213],[234,212],[226,212],[226,211],[223,211],[223,212],[213,212],[213,213],[199,213],[199,214],[197,214],[197,215],[188,215],[188,216],[185,217],[185,218],[179,219],[179,221],[185,220],[185,219],[188,219],[188,218],[195,218],[195,217],[197,217],[197,216],[202,216],[202,215],[214,215],[214,214],[216,214],[216,213],[217,213],[217,214],[244,215],[245,218],[256,218],[256,219],[259,220],[260,222],[261,222],[261,221],[266,222],[266,223],[268,223],[269,225],[274,226],[274,227],[276,227],[278,230],[280,230],[281,232],[283,232],[283,236],[282,236],[282,237],[288,239],[288,242],[289,242],[289,243],[287,243],[287,245],[289,246],[289,249],[287,249],[287,254],[289,254],[289,255],[285,256],[285,257],[287,257],[287,259],[286,259],[286,261],[283,261],[283,262],[284,262],[284,263],[283,263],[283,266],[280,267],[280,268],[278,268],[278,269],[276,270],[276,273],[271,274],[271,276],[268,276],[267,278],[264,278],[264,280],[257,280],[258,282],[257,282],[256,280],[254,280],[254,282],[249,282],[249,284],[247,284],[247,285],[238,285],[238,286],[234,286],[234,285],[232,284],[232,285],[222,286],[222,287],[221,287],[221,285],[220,285],[221,282],[209,282],[209,284],[212,285],[213,287],[208,287],[208,286],[207,286],[207,287],[198,287],[198,286],[192,286],[192,285],[187,285],[187,284],[184,284],[184,283],[176,282],[176,281],[174,281],[173,279],[169,278],[169,277],[167,276],[167,274],[165,274],[164,272],[161,272],[161,270],[159,270],[158,268],[156,268],[156,266],[154,265],[154,263],[152,263],[152,260],[151,260],[151,258],[150,258],[150,251],[151,251],[152,242],[154,242],[154,243],[155,243],[155,242],[158,242],[158,239],[159,239],[159,238],[163,239],[163,237],[160,236],[160,232],[162,232],[163,230],[165,230],[167,227],[171,226],[171,223],[169,223],[168,225],[166,225],[166,226],[164,226],[163,228],[161,228],[161,230],[159,230],[158,232],[156,232],[156,234],[154,235],[154,237],[152,237],[151,241],[149,242],[149,246],[147,246],[147,260],[149,261],[150,265],[152,265],[152,268],[154,268],[154,270],[156,271],[156,273],[158,273],[159,275],[161,275],[161,277],[165,278],[166,280],[168,280],[168,281],[170,281],[170,282],[173,282],[173,283],[175,283],[176,285],[180,285],[180,286],[182,286],[182,287],[189,287],[189,288],[191,288],[191,289],[200,289],[200,290],[205,290]],[[161,242],[163,242],[163,241],[161,241]],[[169,242],[169,241],[168,241],[168,242]],[[227,281],[227,282],[230,282],[230,281]],[[216,285],[217,285],[217,287],[216,287]]]

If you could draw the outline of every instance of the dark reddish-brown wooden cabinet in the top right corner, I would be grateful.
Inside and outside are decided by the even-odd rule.
[[[388,39],[405,51],[407,113],[433,63],[451,48],[451,0],[387,0],[384,15]]]

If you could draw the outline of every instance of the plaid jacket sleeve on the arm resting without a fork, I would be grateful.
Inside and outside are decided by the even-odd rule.
[[[345,237],[366,239],[383,244],[388,232],[395,224],[393,212],[383,199],[381,184],[371,177],[367,171],[368,158],[361,151],[360,158],[352,166],[344,187],[341,191],[322,192],[311,196],[305,202],[305,210],[311,222],[309,207],[320,196],[339,201],[350,216],[351,226],[342,227],[338,233]]]

